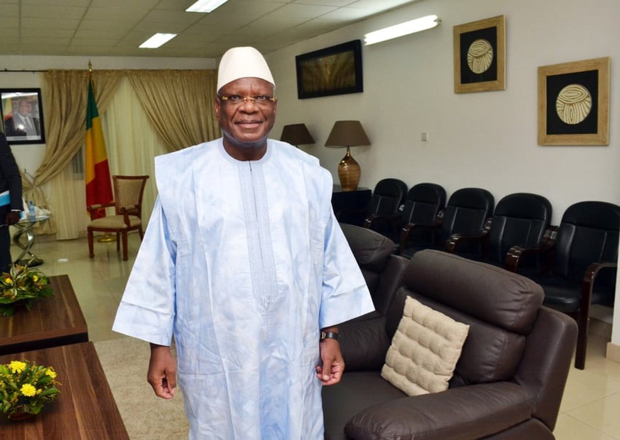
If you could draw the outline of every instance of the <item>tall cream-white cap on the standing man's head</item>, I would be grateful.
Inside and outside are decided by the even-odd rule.
[[[239,78],[260,78],[273,84],[273,76],[267,61],[255,48],[246,46],[226,51],[219,61],[218,92],[231,81]]]

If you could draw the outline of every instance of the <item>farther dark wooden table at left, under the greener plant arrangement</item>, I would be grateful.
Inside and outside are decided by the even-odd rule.
[[[32,301],[30,310],[0,316],[0,355],[88,340],[86,320],[68,275],[49,278],[54,296]]]

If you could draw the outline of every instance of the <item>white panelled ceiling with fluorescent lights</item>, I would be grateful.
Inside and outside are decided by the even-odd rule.
[[[232,46],[268,53],[416,0],[0,0],[0,54],[218,58]],[[153,33],[178,33],[157,49]]]

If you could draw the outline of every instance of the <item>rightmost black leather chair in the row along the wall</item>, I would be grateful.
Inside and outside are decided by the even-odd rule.
[[[577,320],[575,368],[585,366],[590,305],[614,303],[619,230],[620,206],[578,202],[562,215],[555,241],[534,248],[516,246],[508,252],[507,269],[513,272],[532,252],[550,257],[551,270],[528,277],[542,286],[544,305]]]

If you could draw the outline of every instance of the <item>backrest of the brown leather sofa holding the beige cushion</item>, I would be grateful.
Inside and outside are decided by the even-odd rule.
[[[490,264],[425,249],[412,257],[403,285],[387,311],[390,339],[410,295],[470,326],[450,387],[515,376],[544,298],[538,284]]]

